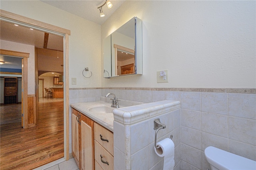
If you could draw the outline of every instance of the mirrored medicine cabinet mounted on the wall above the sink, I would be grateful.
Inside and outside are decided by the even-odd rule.
[[[142,21],[134,17],[104,40],[104,78],[142,74]]]

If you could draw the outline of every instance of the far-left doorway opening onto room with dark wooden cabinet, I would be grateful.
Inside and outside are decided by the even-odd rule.
[[[0,60],[4,61],[4,64],[0,65],[0,87],[2,94],[0,125],[19,123],[21,128],[23,127],[23,58],[1,55]]]

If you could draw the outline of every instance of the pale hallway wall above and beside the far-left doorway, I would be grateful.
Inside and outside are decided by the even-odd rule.
[[[2,7],[2,2],[1,2]],[[1,49],[29,53],[28,57],[28,95],[35,94],[35,47],[22,43],[14,43],[1,40]]]

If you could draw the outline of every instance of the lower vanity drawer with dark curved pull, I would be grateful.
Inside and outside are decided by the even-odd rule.
[[[95,160],[104,170],[113,170],[114,169],[114,157],[104,149],[96,140],[94,140],[94,149],[95,149]],[[101,158],[102,156],[102,158]],[[103,161],[108,162],[108,164],[103,163]]]

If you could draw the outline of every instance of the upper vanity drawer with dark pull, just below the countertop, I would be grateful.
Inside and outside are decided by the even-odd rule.
[[[111,131],[94,123],[94,139],[108,150],[112,156],[114,155],[113,133]],[[108,140],[108,142],[104,141],[104,139]]]

